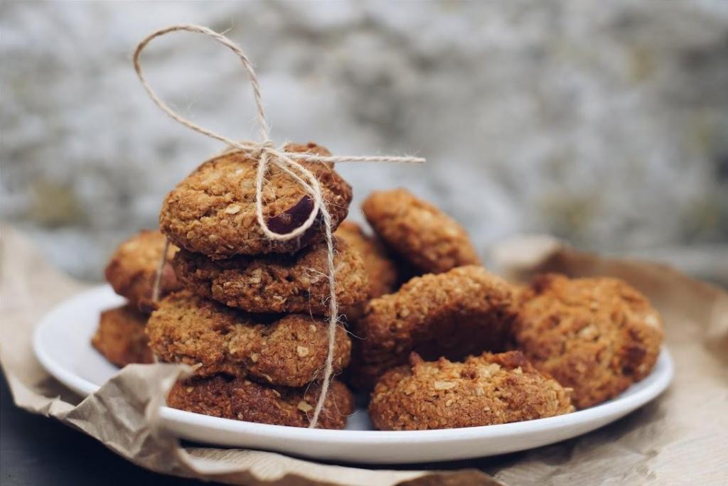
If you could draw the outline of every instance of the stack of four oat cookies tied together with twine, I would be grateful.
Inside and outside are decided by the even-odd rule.
[[[313,143],[288,151],[330,155]],[[333,229],[346,218],[352,189],[330,164],[304,163],[320,181]],[[328,263],[323,226],[298,239],[266,238],[256,220],[257,162],[225,154],[205,162],[167,195],[160,228],[180,247],[171,262],[184,290],[159,301],[147,324],[164,362],[191,365],[194,376],[167,398],[172,407],[246,421],[308,426],[328,356]],[[277,167],[266,175],[264,218],[285,233],[313,204]],[[369,295],[359,253],[336,238],[336,297],[342,313]],[[349,365],[352,343],[336,330],[334,373]],[[341,429],[352,395],[333,381],[319,426]]]

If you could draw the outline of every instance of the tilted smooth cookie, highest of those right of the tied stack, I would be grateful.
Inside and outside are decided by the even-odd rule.
[[[421,273],[480,261],[462,226],[405,189],[374,192],[362,210],[376,234]]]

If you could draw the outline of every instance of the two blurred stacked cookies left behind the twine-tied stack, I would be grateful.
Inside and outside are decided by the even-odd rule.
[[[106,281],[127,303],[101,313],[91,343],[116,366],[153,361],[144,330],[154,309],[151,293],[164,248],[165,236],[159,231],[141,231],[120,244],[106,266]],[[162,296],[182,289],[169,265],[177,250],[174,245],[167,250],[159,287]]]

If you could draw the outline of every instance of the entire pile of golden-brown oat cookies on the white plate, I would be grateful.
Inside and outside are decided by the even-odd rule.
[[[288,149],[328,155],[315,144]],[[654,367],[660,316],[625,282],[549,274],[529,286],[506,282],[480,265],[459,223],[403,189],[365,200],[367,234],[342,221],[352,191],[333,167],[304,165],[336,228],[336,297],[355,337],[336,330],[334,372],[369,394],[377,429],[561,415],[616,397]],[[151,301],[151,287],[164,236],[146,231],[109,263],[107,279],[129,304],[102,314],[93,342],[117,365],[153,354],[191,365],[194,374],[167,397],[172,407],[308,426],[328,354],[323,228],[267,239],[255,215],[255,170],[244,155],[226,154],[167,196],[160,226],[173,245],[162,300]],[[300,226],[313,207],[301,188],[276,170],[266,188],[269,228]],[[353,407],[347,386],[333,381],[319,426],[341,429]]]

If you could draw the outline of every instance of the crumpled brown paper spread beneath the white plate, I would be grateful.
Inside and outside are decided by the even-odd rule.
[[[724,483],[726,292],[665,266],[585,255],[550,239],[532,242],[501,247],[505,251],[496,252],[501,270],[520,279],[535,271],[626,279],[646,292],[662,313],[676,377],[660,399],[598,431],[525,453],[459,463],[480,465],[494,479],[475,469],[359,469],[256,450],[179,447],[174,437],[151,425],[165,386],[180,373],[172,365],[126,367],[80,401],[41,368],[31,350],[31,335],[42,314],[83,286],[49,268],[28,240],[7,226],[1,242],[0,361],[18,406],[74,426],[139,466],[183,477],[238,485]]]

